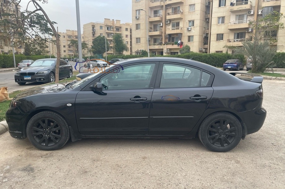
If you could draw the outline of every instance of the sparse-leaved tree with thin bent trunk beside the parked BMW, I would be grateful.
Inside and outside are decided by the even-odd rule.
[[[29,0],[25,11],[20,11],[21,0],[1,0],[0,27],[7,29],[4,37],[10,37],[14,42],[13,46],[17,46],[20,41],[26,41],[29,38],[47,41],[47,35],[55,36],[57,60],[55,66],[55,82],[59,82],[59,63],[60,63],[60,46],[59,34],[54,24],[50,21],[48,15],[40,6],[39,2],[47,3],[48,0]],[[31,10],[34,7],[33,11]],[[39,14],[41,12],[42,14]],[[35,40],[36,41],[36,40]]]

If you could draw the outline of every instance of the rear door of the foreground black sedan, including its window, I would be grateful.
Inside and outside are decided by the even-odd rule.
[[[185,135],[213,95],[213,75],[183,64],[160,63],[151,99],[149,134]]]

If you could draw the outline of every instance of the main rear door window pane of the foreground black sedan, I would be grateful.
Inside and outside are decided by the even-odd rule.
[[[188,66],[164,64],[160,88],[197,87],[201,71]]]

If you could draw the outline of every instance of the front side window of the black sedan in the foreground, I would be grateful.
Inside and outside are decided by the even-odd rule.
[[[108,73],[100,78],[103,90],[130,90],[149,88],[155,63],[127,66],[116,73]]]

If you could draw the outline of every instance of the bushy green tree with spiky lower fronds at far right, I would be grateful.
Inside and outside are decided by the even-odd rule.
[[[242,54],[252,57],[252,73],[264,72],[270,65],[277,47],[273,45],[276,42],[278,29],[284,29],[284,24],[279,22],[283,17],[282,13],[276,11],[263,15],[262,18],[250,22],[254,28],[253,36],[250,40],[242,42],[242,47],[235,47],[235,54]]]

